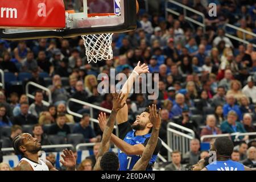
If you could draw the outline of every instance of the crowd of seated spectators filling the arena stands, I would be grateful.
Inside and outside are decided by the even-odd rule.
[[[97,64],[87,63],[80,37],[18,42],[0,39],[0,69],[6,74],[6,87],[0,91],[0,128],[11,127],[11,133],[1,133],[3,147],[11,147],[11,140],[22,131],[31,132],[43,144],[68,143],[71,134],[81,134],[84,142],[100,142],[99,127],[89,122],[98,111],[89,115],[89,107],[71,102],[69,108],[82,114],[78,118],[67,113],[67,101],[75,98],[112,109],[112,95],[98,93],[101,80],[97,75],[109,75],[112,68],[128,75],[138,61],[148,64],[151,73],[159,73],[159,98],[147,100],[147,94],[131,94],[127,100],[129,122],[154,103],[163,108],[159,137],[164,142],[169,122],[195,132],[190,151],[185,156],[181,151],[172,152],[167,169],[185,169],[184,163],[192,166],[207,156],[208,152],[200,151],[199,139],[204,135],[256,132],[255,37],[248,35],[246,40],[251,43],[240,44],[226,37],[223,27],[232,23],[256,33],[256,3],[209,1],[217,4],[218,13],[210,17],[201,1],[181,2],[205,13],[205,32],[183,14],[166,18],[161,13],[138,14],[137,30],[113,35],[113,60]],[[240,31],[233,35],[243,39]],[[43,102],[48,101],[48,93],[33,86],[29,90],[34,100],[26,96],[29,81],[51,90],[51,105]],[[232,135],[232,139],[239,145],[234,158],[239,154],[239,161],[255,166],[256,142],[248,146],[255,136]],[[164,156],[166,152],[161,151]],[[85,159],[79,169],[90,169],[94,163],[94,159]],[[6,168],[5,164],[0,168]]]

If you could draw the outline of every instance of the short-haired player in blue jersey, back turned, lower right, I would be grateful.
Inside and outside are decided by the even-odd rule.
[[[234,149],[232,140],[220,137],[215,140],[211,151],[216,152],[216,161],[208,164],[201,171],[251,171],[249,167],[231,160]]]

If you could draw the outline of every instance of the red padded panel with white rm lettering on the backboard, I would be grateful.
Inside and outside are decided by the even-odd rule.
[[[64,28],[63,0],[0,0],[0,27]]]

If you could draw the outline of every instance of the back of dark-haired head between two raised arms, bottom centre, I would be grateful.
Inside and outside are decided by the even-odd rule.
[[[119,160],[114,152],[106,152],[100,162],[102,171],[117,171],[119,168]]]

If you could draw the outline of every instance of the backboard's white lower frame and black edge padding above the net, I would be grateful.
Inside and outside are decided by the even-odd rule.
[[[0,30],[0,38],[6,40],[71,38],[80,35],[127,32],[136,29],[137,14],[135,0],[120,0],[121,15],[109,14],[107,16],[97,16],[97,14],[96,16],[91,16],[87,13],[87,1],[83,1],[84,12],[73,14],[64,12],[66,15],[66,27],[63,29],[31,30],[22,28],[4,28]]]

